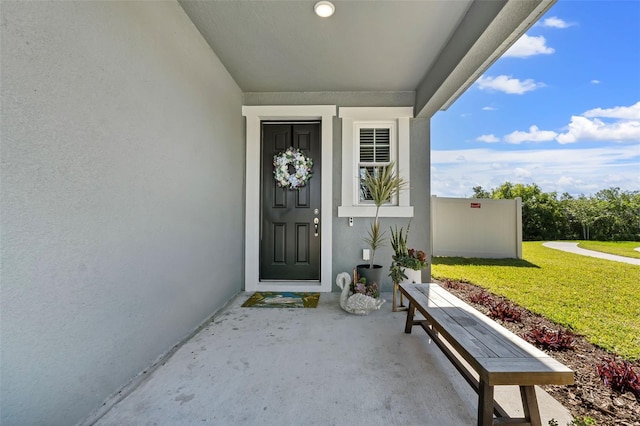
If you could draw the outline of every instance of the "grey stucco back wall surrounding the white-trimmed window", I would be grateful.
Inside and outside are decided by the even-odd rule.
[[[361,106],[408,106],[413,105],[413,92],[325,92],[325,93],[245,93],[246,105],[337,105],[338,107]],[[411,205],[414,207],[414,218],[411,223],[409,244],[416,249],[428,251],[430,241],[429,194],[430,187],[430,141],[429,119],[411,120]],[[365,263],[362,260],[362,249],[367,248],[363,241],[367,235],[371,219],[353,218],[353,226],[349,226],[348,218],[338,217],[338,206],[341,203],[342,179],[342,120],[338,117],[333,122],[333,291],[339,291],[335,285],[335,277],[340,272],[351,272],[355,265]],[[383,218],[382,229],[397,224],[405,226],[407,218]],[[376,251],[375,261],[385,267],[383,291],[391,291],[392,283],[388,275],[391,264],[391,247]],[[431,269],[423,271],[423,280],[429,280]]]

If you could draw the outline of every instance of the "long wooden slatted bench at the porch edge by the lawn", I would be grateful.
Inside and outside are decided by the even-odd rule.
[[[478,425],[539,426],[535,385],[573,384],[573,371],[569,368],[439,285],[400,284],[400,291],[409,300],[405,333],[411,333],[414,325],[420,325],[474,387],[478,393]],[[414,319],[416,310],[424,320]],[[497,385],[520,386],[523,418],[509,418],[494,401],[493,391]]]

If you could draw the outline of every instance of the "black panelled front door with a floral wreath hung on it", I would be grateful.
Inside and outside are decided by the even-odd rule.
[[[313,160],[299,189],[274,178],[274,156],[290,147]],[[262,123],[260,280],[320,280],[320,159],[319,122]]]

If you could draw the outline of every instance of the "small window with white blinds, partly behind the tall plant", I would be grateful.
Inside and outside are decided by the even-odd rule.
[[[388,127],[359,129],[360,202],[372,201],[371,194],[362,184],[367,171],[374,175],[380,167],[391,162],[391,129]]]

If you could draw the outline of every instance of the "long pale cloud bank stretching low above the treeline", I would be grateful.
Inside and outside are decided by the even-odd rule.
[[[623,191],[640,187],[640,144],[586,149],[435,150],[431,162],[431,192],[442,197],[469,197],[474,186],[491,189],[507,180],[535,182],[545,192],[572,195],[594,194],[610,186]]]

